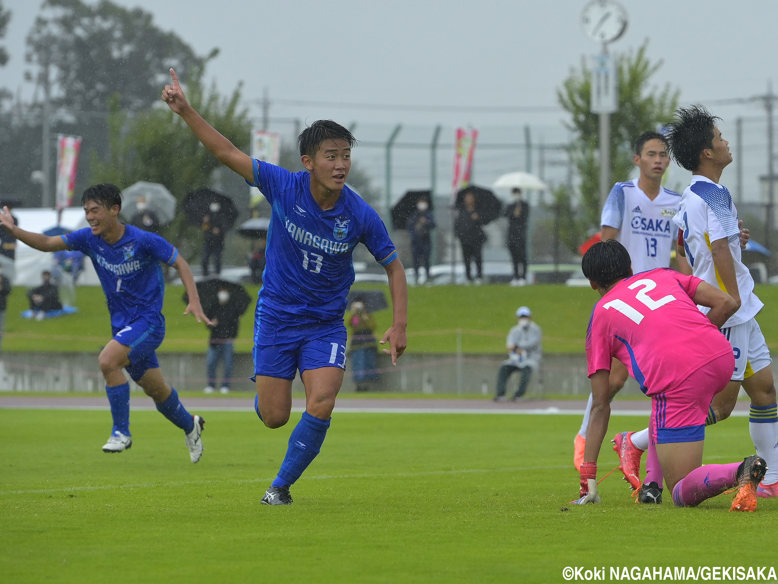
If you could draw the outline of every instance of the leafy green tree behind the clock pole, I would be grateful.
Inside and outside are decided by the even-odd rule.
[[[678,107],[680,90],[668,83],[663,88],[650,86],[650,79],[663,62],[647,58],[648,41],[634,51],[615,55],[619,69],[619,111],[611,114],[611,176],[614,181],[629,178],[633,165],[633,145],[638,135],[655,130],[657,125],[671,120]],[[569,217],[563,236],[566,245],[575,250],[588,232],[600,229],[599,190],[599,120],[589,111],[591,69],[586,58],[580,69],[571,69],[569,77],[557,90],[559,104],[570,114],[567,123],[573,132],[570,155],[580,178],[578,213],[573,213],[573,193],[567,188],[555,191],[556,203],[566,207]]]

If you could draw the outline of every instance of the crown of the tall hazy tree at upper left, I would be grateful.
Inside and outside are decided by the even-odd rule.
[[[106,111],[114,93],[124,109],[149,107],[170,67],[183,81],[205,62],[174,33],[155,26],[149,12],[110,0],[96,6],[46,0],[27,47],[28,62],[54,69],[59,104],[75,111]]]

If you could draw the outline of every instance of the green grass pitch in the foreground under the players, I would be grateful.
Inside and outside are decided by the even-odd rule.
[[[134,412],[106,455],[109,414],[0,410],[3,582],[562,582],[566,566],[769,566],[778,501],[635,505],[616,475],[578,508],[576,416],[336,414],[291,507],[259,505],[294,414],[205,413],[205,454]],[[614,418],[612,431],[640,417]],[[708,431],[706,462],[752,452],[748,422]],[[601,476],[615,466],[601,456]]]

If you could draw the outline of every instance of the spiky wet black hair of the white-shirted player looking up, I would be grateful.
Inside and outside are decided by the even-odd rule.
[[[721,118],[701,105],[678,107],[675,118],[665,126],[671,156],[687,171],[694,172],[699,168],[699,155],[706,148],[713,148],[713,128]]]

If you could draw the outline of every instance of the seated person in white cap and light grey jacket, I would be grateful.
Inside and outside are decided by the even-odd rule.
[[[516,311],[518,324],[510,329],[506,339],[508,358],[499,367],[497,373],[497,391],[494,396],[496,402],[505,400],[505,386],[508,379],[515,371],[521,371],[519,388],[513,394],[511,401],[516,401],[527,392],[530,384],[532,370],[540,366],[543,347],[543,331],[532,320],[532,311],[526,306]]]

